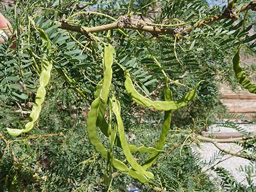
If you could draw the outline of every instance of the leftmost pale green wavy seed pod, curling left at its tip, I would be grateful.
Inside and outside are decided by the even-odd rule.
[[[42,38],[43,44],[48,48],[51,46],[51,42],[48,39],[48,36],[44,32],[44,30],[39,29],[40,36]],[[46,44],[45,44],[46,42]],[[52,70],[52,61],[51,59],[42,59],[41,61],[42,69],[39,78],[39,88],[36,91],[35,95],[35,104],[32,107],[31,114],[29,115],[29,122],[25,125],[23,129],[12,129],[7,128],[7,131],[10,135],[17,137],[21,133],[27,133],[31,131],[34,127],[34,123],[38,120],[40,112],[41,112],[41,105],[45,100],[46,96],[46,86],[49,83],[51,78],[51,70]]]

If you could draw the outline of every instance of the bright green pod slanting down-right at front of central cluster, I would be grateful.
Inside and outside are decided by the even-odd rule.
[[[121,141],[121,146],[123,148],[124,155],[127,159],[127,162],[130,163],[131,167],[138,171],[140,174],[143,174],[147,176],[148,178],[153,178],[154,175],[149,172],[145,171],[145,169],[142,168],[141,165],[139,165],[136,160],[133,158],[131,151],[129,149],[129,144],[127,143],[126,137],[125,137],[125,131],[124,131],[124,125],[123,121],[121,120],[121,114],[120,114],[120,103],[118,100],[113,100],[113,112],[115,114],[115,118],[117,119],[117,124],[118,124],[118,133]]]

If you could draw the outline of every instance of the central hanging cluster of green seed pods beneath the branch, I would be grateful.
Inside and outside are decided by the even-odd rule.
[[[165,101],[151,101],[149,98],[139,94],[133,86],[129,72],[125,71],[125,89],[131,96],[132,100],[137,104],[144,107],[153,107],[156,110],[164,110],[164,122],[162,126],[162,132],[160,139],[156,144],[156,147],[137,147],[131,145],[126,140],[125,129],[121,118],[121,106],[120,102],[115,98],[113,93],[110,97],[111,82],[112,82],[112,64],[113,64],[114,48],[111,45],[104,48],[104,77],[96,86],[95,100],[92,103],[91,109],[87,115],[87,132],[90,142],[95,146],[96,150],[107,160],[107,169],[105,172],[105,183],[108,184],[111,179],[111,168],[120,171],[127,172],[131,177],[138,179],[140,182],[152,183],[150,181],[154,177],[153,173],[147,171],[151,165],[153,165],[160,152],[162,151],[163,144],[166,140],[168,131],[170,129],[170,120],[172,117],[172,110],[179,109],[188,104],[188,102],[194,100],[197,97],[196,87],[187,93],[183,98],[177,101],[173,101],[172,91],[169,89],[168,84],[164,88]],[[108,122],[105,119],[106,110],[109,110]],[[112,124],[112,112],[114,114],[115,123]],[[96,127],[99,127],[103,134],[109,138],[109,149],[107,149],[99,139],[99,135],[96,132]],[[117,135],[118,133],[118,135]],[[113,146],[116,145],[121,147],[126,157],[129,166],[121,162],[121,160],[113,157]],[[150,153],[148,159],[145,160],[144,164],[139,165],[136,159],[133,157],[132,152]]]

